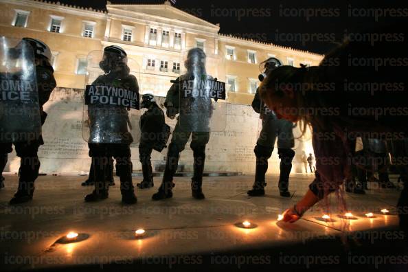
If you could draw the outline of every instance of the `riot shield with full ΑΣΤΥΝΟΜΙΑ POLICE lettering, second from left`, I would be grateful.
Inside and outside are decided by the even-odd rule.
[[[137,144],[139,65],[113,52],[87,57],[82,137],[90,144]]]

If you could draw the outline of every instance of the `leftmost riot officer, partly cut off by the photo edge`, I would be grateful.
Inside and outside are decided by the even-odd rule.
[[[34,61],[35,61],[35,74],[36,74],[36,84],[38,91],[38,104],[36,104],[36,109],[34,107],[30,111],[38,111],[41,121],[38,121],[38,131],[39,133],[34,133],[36,136],[32,139],[27,137],[24,139],[15,139],[10,142],[2,141],[0,143],[0,170],[3,172],[5,164],[7,163],[7,155],[12,152],[12,145],[16,148],[16,155],[21,158],[20,169],[19,169],[19,188],[14,194],[14,197],[10,200],[10,204],[25,203],[32,200],[34,194],[34,181],[38,177],[38,171],[40,169],[40,161],[38,159],[38,148],[44,144],[43,137],[41,136],[41,125],[44,124],[47,113],[43,111],[43,105],[49,100],[49,95],[56,87],[56,81],[54,79],[54,69],[51,65],[52,54],[51,51],[45,43],[38,41],[34,38],[23,38],[22,42],[19,43],[14,48],[14,52],[23,51],[25,44],[29,44],[34,51]],[[10,50],[10,54],[13,50]],[[21,54],[21,53],[20,53]],[[27,54],[27,53],[23,53]],[[19,53],[16,53],[15,58],[19,57]],[[11,58],[11,57],[10,57]],[[30,71],[27,71],[29,73]],[[21,78],[27,76],[20,75],[16,76],[17,80],[22,80]],[[20,78],[20,79],[19,79]],[[2,76],[3,80],[3,76]],[[23,103],[21,103],[23,104]],[[39,107],[39,109],[38,109]],[[32,113],[33,113],[32,112]],[[30,116],[32,113],[25,112],[25,117]],[[35,118],[34,118],[35,120]],[[9,120],[8,122],[17,122],[18,120]],[[34,124],[25,124],[25,126],[35,126]],[[4,126],[2,128],[2,131]]]

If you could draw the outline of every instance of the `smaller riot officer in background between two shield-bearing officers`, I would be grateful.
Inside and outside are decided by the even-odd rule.
[[[141,163],[141,170],[143,172],[143,181],[137,183],[140,189],[153,187],[153,170],[150,157],[152,150],[159,152],[166,147],[168,137],[162,141],[162,128],[166,125],[164,121],[163,110],[155,102],[155,97],[150,94],[144,94],[141,98],[141,109],[147,109],[146,113],[141,115],[140,119],[140,144],[139,144],[139,159]],[[170,130],[170,127],[169,127]]]

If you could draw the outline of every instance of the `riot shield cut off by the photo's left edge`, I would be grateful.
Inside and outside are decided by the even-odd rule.
[[[0,37],[0,142],[41,135],[34,51],[29,43]]]

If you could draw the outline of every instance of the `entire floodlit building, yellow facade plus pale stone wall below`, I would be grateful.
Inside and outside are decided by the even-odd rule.
[[[242,172],[253,172],[255,167],[253,146],[259,119],[248,105],[259,84],[259,63],[274,56],[284,65],[318,65],[323,58],[297,49],[220,34],[220,25],[178,10],[168,1],[159,5],[108,3],[107,12],[32,0],[0,0],[0,8],[2,36],[38,38],[52,49],[58,89],[45,105],[49,119],[43,129],[46,144],[40,151],[42,172],[88,170],[90,159],[80,126],[89,52],[120,45],[129,58],[139,64],[131,68],[139,71],[141,93],[165,96],[170,80],[183,71],[185,50],[203,47],[209,56],[208,72],[227,83],[227,102],[230,103],[227,131],[213,133],[206,169]],[[218,73],[210,61],[214,58],[223,63]],[[310,139],[297,141],[297,146],[302,152],[311,151]],[[181,157],[187,169],[192,163],[192,152],[188,149]],[[155,164],[162,163],[165,154],[166,150],[155,154]],[[137,158],[137,148],[133,148],[135,170],[140,168]],[[275,152],[271,161],[277,166]],[[16,169],[18,161],[10,160],[6,170]],[[276,170],[277,167],[271,167],[272,172]]]

